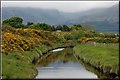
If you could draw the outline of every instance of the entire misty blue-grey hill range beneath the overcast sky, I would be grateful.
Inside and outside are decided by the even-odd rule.
[[[95,8],[84,12],[63,13],[55,9],[3,7],[2,20],[19,16],[24,23],[45,22],[50,25],[91,24],[102,32],[119,32],[119,4],[109,8]]]

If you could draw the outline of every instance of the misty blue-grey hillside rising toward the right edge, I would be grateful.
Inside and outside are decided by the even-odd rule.
[[[76,19],[68,20],[66,24],[91,24],[94,29],[103,32],[119,32],[119,6],[91,9],[79,13]]]

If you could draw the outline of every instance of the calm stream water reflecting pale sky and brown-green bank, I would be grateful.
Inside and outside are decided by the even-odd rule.
[[[56,54],[57,53],[57,54]],[[72,48],[52,52],[37,66],[36,78],[95,78],[97,76],[86,70],[73,56]]]

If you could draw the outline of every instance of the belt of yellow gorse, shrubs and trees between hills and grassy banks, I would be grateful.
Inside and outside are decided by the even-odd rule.
[[[2,28],[2,52],[7,53],[15,49],[26,51],[39,44],[53,46],[57,42],[67,43],[70,40],[76,40],[80,43],[95,41],[98,43],[118,43],[119,38],[113,33],[98,33],[94,30],[85,29],[82,25],[76,24],[72,27],[67,25],[59,25],[57,27],[50,26],[46,23],[34,24],[29,22],[28,28],[23,24],[23,19],[12,17],[3,21]],[[15,28],[14,28],[15,27]],[[17,28],[17,29],[16,29]],[[50,32],[61,29],[62,32]],[[69,31],[70,30],[70,31]]]

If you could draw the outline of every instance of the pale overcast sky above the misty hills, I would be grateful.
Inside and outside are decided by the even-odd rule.
[[[2,7],[37,7],[57,9],[62,12],[78,12],[92,8],[110,7],[119,1],[2,1]]]

